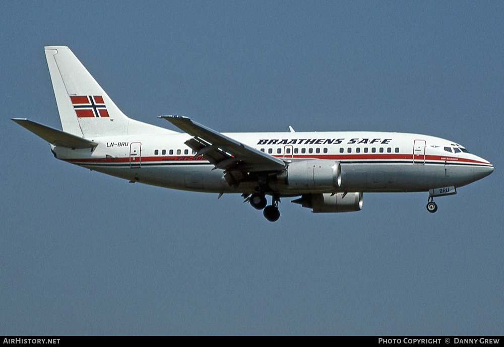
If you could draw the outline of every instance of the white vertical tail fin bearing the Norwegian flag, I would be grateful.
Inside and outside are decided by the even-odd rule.
[[[174,132],[125,116],[67,46],[47,46],[45,56],[65,132],[79,137]]]

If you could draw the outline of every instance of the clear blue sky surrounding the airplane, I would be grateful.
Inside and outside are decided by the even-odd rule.
[[[0,3],[0,334],[501,334],[502,2]],[[267,222],[239,195],[55,160],[43,47],[68,45],[128,116],[218,131],[447,138],[495,171],[436,199],[364,194]],[[172,127],[171,127],[172,128]],[[173,129],[173,128],[172,128]]]

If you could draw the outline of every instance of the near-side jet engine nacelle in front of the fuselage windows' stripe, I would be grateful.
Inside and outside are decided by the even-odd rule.
[[[303,160],[287,167],[287,185],[295,189],[338,188],[341,165],[334,160]]]

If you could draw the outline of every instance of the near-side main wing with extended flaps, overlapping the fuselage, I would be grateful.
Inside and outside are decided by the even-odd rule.
[[[195,156],[203,156],[214,169],[226,171],[279,171],[286,163],[278,158],[251,148],[231,137],[198,124],[191,118],[182,116],[160,116],[181,130],[194,136],[185,144],[196,151]]]

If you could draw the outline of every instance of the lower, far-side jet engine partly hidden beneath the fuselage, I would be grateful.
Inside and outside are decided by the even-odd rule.
[[[353,212],[362,209],[362,193],[303,194],[301,198],[292,202],[312,209],[313,213]]]

